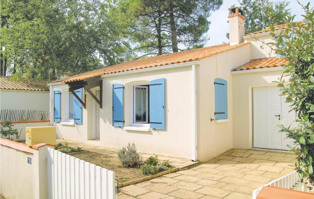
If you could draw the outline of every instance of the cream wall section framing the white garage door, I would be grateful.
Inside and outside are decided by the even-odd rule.
[[[284,70],[272,69],[264,72],[237,73],[232,75],[233,84],[233,148],[252,147],[252,88],[277,86]],[[286,79],[286,82],[288,79]]]

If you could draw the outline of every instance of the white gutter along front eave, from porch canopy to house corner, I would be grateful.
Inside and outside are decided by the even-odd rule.
[[[173,69],[173,68],[178,68],[178,67],[183,67],[183,66],[191,66],[193,64],[199,64],[199,62],[192,61],[192,62],[184,62],[184,63],[179,63],[179,64],[170,64],[170,65],[165,65],[165,66],[156,66],[156,67],[151,67],[151,68],[146,68],[146,69],[129,70],[129,71],[124,71],[124,72],[119,72],[119,73],[104,74],[104,75],[101,75],[101,77],[111,77],[111,76],[117,76],[117,75],[142,73],[142,72],[162,70],[162,69]]]

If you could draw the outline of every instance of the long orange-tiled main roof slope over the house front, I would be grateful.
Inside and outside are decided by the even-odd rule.
[[[205,57],[213,56],[215,54],[223,53],[228,50],[239,48],[248,43],[249,42],[239,43],[232,46],[230,46],[229,43],[226,43],[226,44],[220,44],[216,46],[209,46],[209,47],[197,48],[193,50],[181,51],[178,53],[163,54],[163,55],[148,57],[144,59],[136,59],[136,60],[127,61],[121,64],[108,66],[102,69],[97,69],[97,70],[89,71],[86,73],[74,75],[68,78],[58,79],[58,80],[52,81],[51,83],[74,82],[74,81],[84,80],[90,77],[100,76],[103,74],[112,74],[112,73],[119,73],[119,72],[130,71],[130,70],[145,69],[145,68],[158,67],[158,66],[164,66],[164,65],[169,65],[169,64],[178,64],[178,63],[183,63],[183,62],[195,61],[195,60],[202,59]]]

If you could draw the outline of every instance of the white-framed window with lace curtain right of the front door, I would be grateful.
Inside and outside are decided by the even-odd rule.
[[[149,85],[133,87],[133,122],[149,123]]]

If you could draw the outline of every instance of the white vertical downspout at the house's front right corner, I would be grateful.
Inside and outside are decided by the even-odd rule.
[[[192,65],[192,136],[193,136],[193,157],[192,161],[195,162],[197,159],[196,151],[196,70],[195,64]]]

